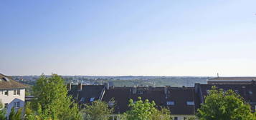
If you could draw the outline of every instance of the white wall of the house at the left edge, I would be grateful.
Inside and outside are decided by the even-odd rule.
[[[4,95],[4,91],[8,90],[8,95]],[[14,95],[14,89],[5,89],[0,90],[0,100],[2,104],[8,104],[6,109],[7,116],[11,112],[11,108],[14,106],[14,103],[19,102],[20,107],[24,107],[25,101],[25,89],[20,89],[20,95]],[[19,108],[15,108],[16,110]]]

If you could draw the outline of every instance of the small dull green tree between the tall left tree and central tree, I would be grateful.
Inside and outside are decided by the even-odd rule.
[[[85,120],[108,120],[113,109],[110,109],[108,103],[104,101],[93,101],[92,104],[85,105],[83,112]]]

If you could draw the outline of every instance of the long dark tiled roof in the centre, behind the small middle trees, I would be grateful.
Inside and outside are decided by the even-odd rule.
[[[194,101],[194,88],[174,88],[174,87],[137,87],[136,94],[133,94],[133,87],[110,88],[105,91],[103,101],[115,99],[115,113],[127,111],[128,100],[136,101],[138,96],[143,100],[155,101],[156,106],[168,107],[171,114],[194,114],[194,106],[186,105],[186,101]],[[173,106],[167,106],[167,101],[174,101]]]

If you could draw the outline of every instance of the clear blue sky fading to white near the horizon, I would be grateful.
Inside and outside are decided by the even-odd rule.
[[[255,0],[2,0],[6,75],[256,76]]]

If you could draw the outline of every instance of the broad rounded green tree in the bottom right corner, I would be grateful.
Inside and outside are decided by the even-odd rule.
[[[204,104],[198,109],[200,120],[255,120],[250,105],[234,91],[217,89],[215,86],[209,91]]]

